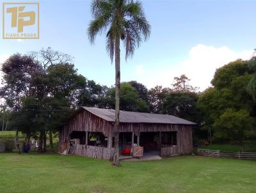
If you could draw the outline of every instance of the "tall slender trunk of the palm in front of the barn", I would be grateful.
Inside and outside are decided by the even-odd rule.
[[[120,114],[120,38],[115,40],[115,68],[116,68],[116,87],[115,87],[115,154],[113,157],[113,166],[120,166],[119,162],[119,114]]]

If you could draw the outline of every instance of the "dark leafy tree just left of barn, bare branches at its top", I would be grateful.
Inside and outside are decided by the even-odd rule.
[[[31,57],[42,67],[42,70],[36,72],[36,78],[32,79],[32,82],[33,93],[42,105],[41,116],[45,125],[40,127],[39,141],[44,143],[42,150],[44,152],[47,132],[52,147],[52,132],[56,131],[56,124],[60,125],[68,112],[72,111],[70,107],[73,109],[77,107],[77,97],[86,79],[77,73],[77,69],[71,63],[71,56],[54,51],[50,47],[32,52]],[[41,145],[39,143],[40,148]]]

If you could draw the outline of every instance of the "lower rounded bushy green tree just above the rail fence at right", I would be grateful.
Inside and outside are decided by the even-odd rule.
[[[237,141],[243,144],[244,139],[255,136],[254,122],[250,113],[244,109],[227,109],[213,124],[214,137],[222,141]]]

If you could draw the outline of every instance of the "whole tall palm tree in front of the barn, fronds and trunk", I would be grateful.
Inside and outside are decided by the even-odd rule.
[[[134,54],[140,42],[150,36],[150,24],[143,12],[142,4],[132,0],[93,0],[93,20],[88,27],[91,43],[95,36],[106,31],[106,49],[111,62],[115,55],[115,155],[113,165],[119,165],[119,113],[120,113],[120,40],[124,42],[125,59]]]

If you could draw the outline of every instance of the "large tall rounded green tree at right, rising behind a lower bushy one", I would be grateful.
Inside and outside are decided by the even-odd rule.
[[[223,116],[225,117],[227,114],[237,116],[246,111],[251,118],[255,117],[255,103],[246,91],[246,86],[253,73],[248,66],[248,61],[237,60],[228,63],[216,70],[212,79],[214,88],[206,89],[200,95],[197,107],[204,119],[204,127],[212,128],[215,139],[228,140],[227,137],[223,137],[227,135],[227,130],[218,129]],[[232,111],[228,109],[232,109]],[[237,122],[237,124],[239,123]],[[241,135],[241,139],[245,136],[248,137],[248,135]],[[237,138],[230,135],[229,140],[237,141]]]

